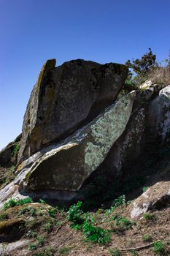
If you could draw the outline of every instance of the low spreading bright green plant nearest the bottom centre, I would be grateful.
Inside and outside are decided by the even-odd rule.
[[[110,235],[107,230],[101,227],[94,227],[87,218],[83,224],[83,234],[87,241],[92,241],[98,244],[109,244]]]

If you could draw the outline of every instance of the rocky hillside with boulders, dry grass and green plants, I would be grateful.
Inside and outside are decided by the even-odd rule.
[[[0,255],[170,255],[170,86],[127,77],[46,61],[0,151]]]

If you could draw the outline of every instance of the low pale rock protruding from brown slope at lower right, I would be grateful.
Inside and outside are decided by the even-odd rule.
[[[170,181],[161,181],[147,189],[134,200],[131,217],[138,217],[146,211],[161,210],[170,206]]]

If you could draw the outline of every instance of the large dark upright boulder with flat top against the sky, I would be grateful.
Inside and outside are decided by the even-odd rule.
[[[95,118],[115,100],[127,74],[121,64],[77,59],[55,67],[48,60],[28,101],[18,163]]]

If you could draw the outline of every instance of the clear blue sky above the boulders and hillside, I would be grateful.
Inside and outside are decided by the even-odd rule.
[[[169,0],[0,0],[0,148],[20,133],[42,64],[170,50]]]

